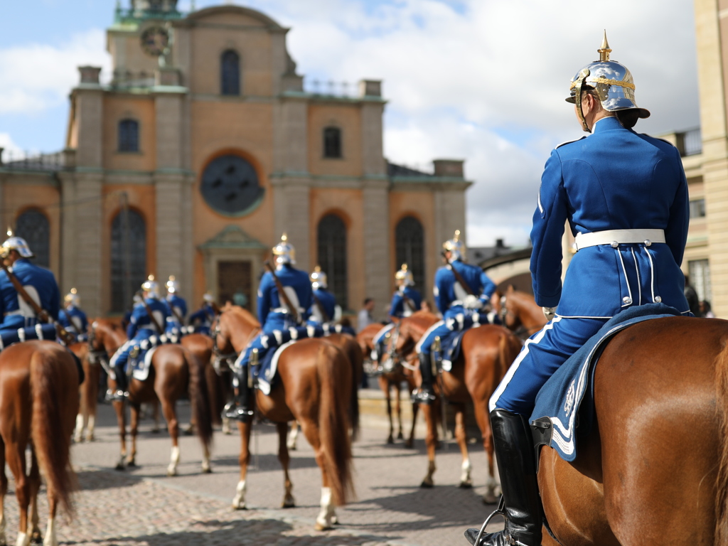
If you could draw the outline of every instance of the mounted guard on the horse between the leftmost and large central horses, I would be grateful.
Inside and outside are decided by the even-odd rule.
[[[106,392],[107,400],[125,400],[129,396],[130,357],[136,360],[141,351],[166,341],[165,324],[170,316],[169,307],[159,299],[159,283],[154,275],[141,285],[141,301],[134,306],[127,326],[128,341],[119,347],[109,364],[116,376],[116,392]]]

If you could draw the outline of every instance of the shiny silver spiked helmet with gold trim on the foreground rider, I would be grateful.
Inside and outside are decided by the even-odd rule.
[[[639,117],[643,119],[649,117],[649,110],[639,108],[635,102],[635,84],[628,68],[622,63],[617,63],[616,60],[609,59],[612,50],[609,49],[609,42],[606,41],[606,31],[604,31],[601,47],[597,51],[599,60],[589,63],[577,72],[571,79],[571,95],[566,98],[567,103],[577,105],[577,114],[582,122],[582,128],[586,132],[591,132],[582,112],[582,91],[585,86],[593,87],[596,90],[601,106],[606,111],[635,109]]]

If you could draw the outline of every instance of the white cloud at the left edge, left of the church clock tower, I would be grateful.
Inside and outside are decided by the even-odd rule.
[[[58,47],[28,44],[0,50],[0,114],[41,115],[68,100],[79,82],[78,67],[102,66],[108,71],[103,31],[92,29]]]

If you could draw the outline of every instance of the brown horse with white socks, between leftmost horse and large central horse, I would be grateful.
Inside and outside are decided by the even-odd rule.
[[[120,328],[114,328],[111,321],[97,319],[90,328],[89,346],[93,351],[103,351],[113,355],[124,342],[126,333]],[[116,380],[109,374],[108,388],[116,390]],[[117,470],[123,470],[125,465],[135,466],[136,438],[139,425],[139,411],[143,403],[162,403],[162,413],[167,420],[167,430],[172,438],[172,452],[167,475],[177,474],[177,465],[180,459],[179,425],[175,403],[185,390],[189,391],[189,400],[197,425],[197,435],[202,443],[202,472],[210,472],[210,443],[212,440],[212,418],[210,416],[210,401],[207,395],[207,381],[205,379],[205,363],[199,362],[188,349],[180,345],[159,345],[151,359],[151,369],[146,381],[130,378],[129,403],[131,408],[131,451],[127,456],[126,443],[126,414],[124,402],[114,402],[116,419],[119,422],[119,436],[121,440],[121,454],[116,464]]]

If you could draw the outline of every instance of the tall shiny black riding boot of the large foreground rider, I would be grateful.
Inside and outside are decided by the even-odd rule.
[[[540,546],[543,515],[531,428],[523,416],[502,409],[491,411],[491,427],[506,522],[504,531],[483,533],[477,546]],[[465,537],[475,544],[478,529]]]

